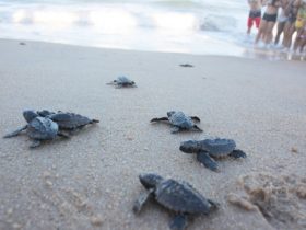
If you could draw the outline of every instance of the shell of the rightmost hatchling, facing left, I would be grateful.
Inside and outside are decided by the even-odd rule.
[[[201,141],[202,150],[208,151],[211,156],[227,156],[235,148],[236,143],[232,139],[205,139]]]

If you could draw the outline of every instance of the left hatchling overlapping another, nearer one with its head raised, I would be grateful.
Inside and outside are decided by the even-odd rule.
[[[67,137],[67,135],[59,131],[59,127],[55,122],[47,117],[39,116],[34,111],[24,111],[23,116],[27,125],[5,135],[4,138],[15,137],[21,131],[26,130],[27,136],[33,139],[33,143],[30,147],[35,148],[40,145],[42,140],[52,140],[57,136]]]

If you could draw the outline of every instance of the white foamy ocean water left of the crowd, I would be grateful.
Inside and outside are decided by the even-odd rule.
[[[0,0],[0,37],[240,56],[247,16],[245,0]]]

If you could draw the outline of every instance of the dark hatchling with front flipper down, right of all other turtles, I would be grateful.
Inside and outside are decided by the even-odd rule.
[[[239,149],[235,149],[236,143],[232,139],[204,139],[188,140],[180,143],[179,149],[186,153],[197,153],[197,159],[210,170],[217,171],[217,163],[213,158],[222,158],[225,156],[237,158],[246,158],[246,153]]]

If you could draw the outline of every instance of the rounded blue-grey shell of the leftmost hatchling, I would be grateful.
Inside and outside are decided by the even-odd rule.
[[[28,123],[26,131],[30,138],[50,140],[57,136],[58,125],[49,118],[38,116]]]

